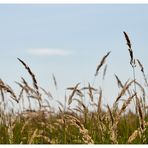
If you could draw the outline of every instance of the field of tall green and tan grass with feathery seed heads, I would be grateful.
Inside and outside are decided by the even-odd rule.
[[[118,96],[112,105],[103,108],[101,88],[93,84],[67,87],[65,102],[58,110],[51,106],[52,93],[38,85],[31,68],[18,58],[32,79],[16,84],[20,92],[0,79],[0,143],[1,144],[145,144],[148,143],[147,94],[148,82],[144,67],[136,59],[131,41],[124,32],[133,71],[133,79],[123,83],[117,75]],[[108,52],[98,64],[94,78],[104,68]],[[136,80],[135,69],[141,71],[144,84]],[[53,75],[55,87],[56,78]],[[85,101],[84,101],[85,100]],[[86,101],[87,100],[87,101]],[[72,105],[74,102],[75,105]],[[89,103],[88,103],[89,102]],[[134,104],[132,109],[130,105]],[[119,105],[120,104],[120,105]]]

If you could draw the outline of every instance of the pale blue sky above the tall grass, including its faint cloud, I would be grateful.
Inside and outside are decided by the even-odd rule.
[[[114,74],[123,82],[132,78],[123,31],[147,72],[147,26],[147,4],[0,4],[0,78],[16,89],[21,77],[31,83],[18,57],[40,86],[62,100],[67,87],[92,84],[97,65],[111,51],[105,80],[99,73],[95,81],[104,103],[111,103],[118,94]],[[142,81],[139,72],[137,77]]]

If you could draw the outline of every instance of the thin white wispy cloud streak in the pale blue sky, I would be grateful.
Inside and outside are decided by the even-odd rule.
[[[32,48],[28,49],[27,52],[36,56],[68,56],[72,54],[72,51],[52,48]]]

